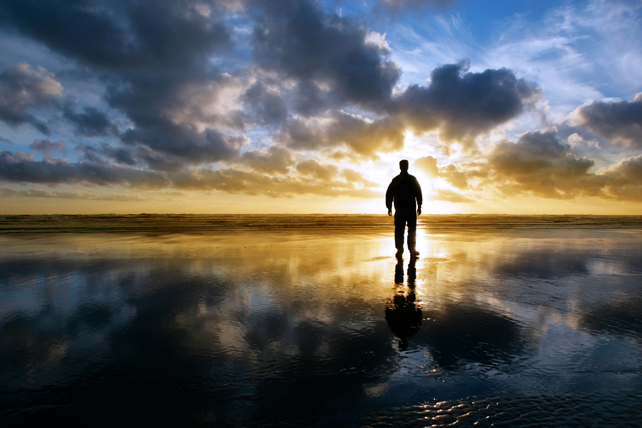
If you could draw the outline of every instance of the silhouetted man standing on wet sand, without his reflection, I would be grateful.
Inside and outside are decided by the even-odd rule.
[[[417,216],[421,214],[421,186],[415,176],[408,174],[408,160],[399,162],[401,173],[392,179],[386,191],[388,216],[392,216],[392,202],[395,203],[395,247],[397,257],[403,254],[403,235],[408,224],[408,251],[411,257],[417,257]],[[417,205],[415,205],[415,200]]]

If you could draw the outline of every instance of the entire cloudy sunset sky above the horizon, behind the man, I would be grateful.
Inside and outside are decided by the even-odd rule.
[[[5,0],[0,214],[642,214],[642,1]]]

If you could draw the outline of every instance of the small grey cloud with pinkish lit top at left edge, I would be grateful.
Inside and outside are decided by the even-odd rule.
[[[29,123],[48,134],[47,125],[30,110],[53,105],[62,97],[62,85],[54,77],[46,69],[33,69],[24,62],[7,67],[0,74],[0,120],[13,126]]]

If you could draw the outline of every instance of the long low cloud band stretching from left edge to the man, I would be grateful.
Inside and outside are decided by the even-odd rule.
[[[331,173],[324,174],[323,171]],[[8,150],[0,152],[0,180],[17,183],[125,185],[137,189],[176,188],[182,190],[243,193],[249,195],[354,196],[375,198],[377,184],[352,169],[339,171],[334,166],[305,169],[298,175],[273,176],[237,169],[191,167],[176,173],[161,173],[135,167],[123,167],[97,160],[68,162],[64,159],[33,160],[33,153]]]

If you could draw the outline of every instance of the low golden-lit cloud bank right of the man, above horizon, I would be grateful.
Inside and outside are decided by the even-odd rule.
[[[574,135],[569,139],[575,141]],[[560,140],[556,128],[548,128],[523,133],[516,142],[496,144],[485,160],[440,165],[437,158],[428,156],[415,160],[415,167],[459,190],[497,189],[505,196],[531,194],[553,199],[642,201],[642,155],[598,169],[593,159],[575,155],[575,146]],[[456,202],[466,198],[444,189],[435,191],[434,200]]]

